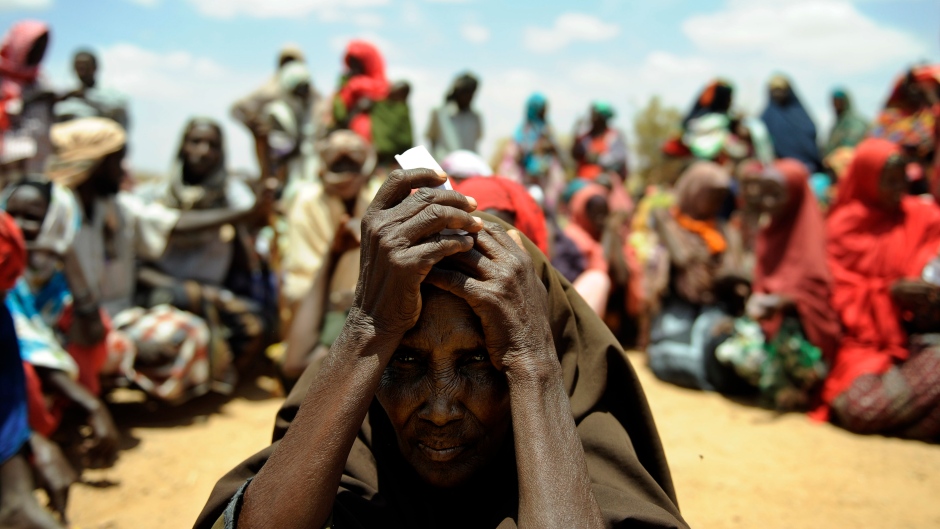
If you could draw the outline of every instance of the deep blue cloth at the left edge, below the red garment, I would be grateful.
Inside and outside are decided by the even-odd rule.
[[[0,303],[0,464],[19,452],[29,435],[23,360],[13,318]]]

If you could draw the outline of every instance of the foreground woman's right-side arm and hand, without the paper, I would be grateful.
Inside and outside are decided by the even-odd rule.
[[[552,340],[547,293],[519,246],[487,223],[474,249],[451,257],[460,271],[435,268],[428,282],[467,301],[480,317],[490,360],[506,374],[519,527],[603,527]]]

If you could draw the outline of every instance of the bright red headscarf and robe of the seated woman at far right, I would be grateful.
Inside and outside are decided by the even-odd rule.
[[[932,201],[905,197],[899,211],[878,206],[885,162],[899,148],[868,139],[859,144],[846,173],[841,205],[826,224],[832,305],[844,330],[823,387],[832,403],[856,378],[882,374],[908,358],[908,340],[890,288],[899,279],[919,277],[940,250],[940,208]]]

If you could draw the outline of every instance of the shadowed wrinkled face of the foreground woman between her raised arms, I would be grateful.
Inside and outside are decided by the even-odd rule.
[[[406,461],[430,485],[465,483],[509,440],[509,387],[467,303],[422,289],[421,318],[389,362],[376,397]]]

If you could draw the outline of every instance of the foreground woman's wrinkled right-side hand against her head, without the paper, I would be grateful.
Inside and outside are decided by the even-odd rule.
[[[548,293],[520,246],[499,224],[484,223],[473,249],[434,267],[427,279],[467,301],[483,325],[490,360],[509,373],[557,364]]]

